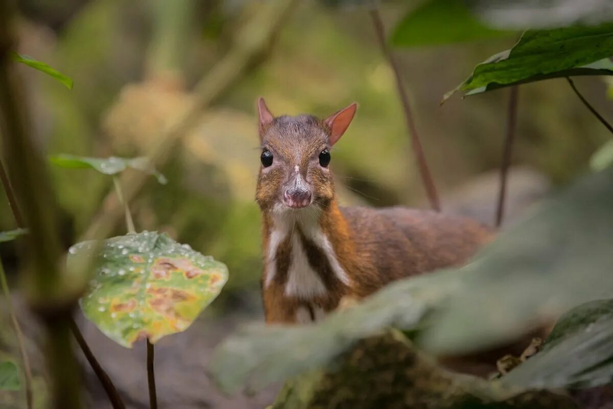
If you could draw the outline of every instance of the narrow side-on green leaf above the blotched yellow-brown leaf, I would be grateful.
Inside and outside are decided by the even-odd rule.
[[[51,156],[49,160],[54,165],[58,165],[62,168],[89,168],[104,174],[117,174],[123,172],[126,168],[132,168],[155,176],[161,184],[167,183],[166,177],[151,167],[151,163],[146,157],[122,158],[111,156],[107,158],[96,158],[61,154]]]

